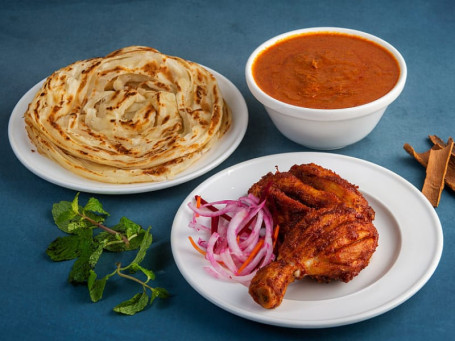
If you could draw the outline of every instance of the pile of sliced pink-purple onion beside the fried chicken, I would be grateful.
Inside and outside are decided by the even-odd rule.
[[[206,267],[207,272],[216,278],[247,285],[256,271],[275,257],[272,246],[273,219],[265,201],[261,202],[248,194],[238,200],[203,202],[200,207],[194,203],[188,204],[193,211],[189,226],[205,235],[205,238],[199,238],[198,245],[206,249],[206,259],[210,263]],[[216,222],[213,221],[215,217],[218,220]],[[202,219],[205,221],[201,222]],[[262,246],[251,257],[261,239]],[[246,260],[248,264],[245,266]],[[240,268],[243,268],[241,273]]]

